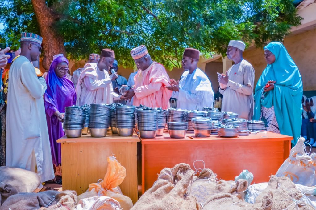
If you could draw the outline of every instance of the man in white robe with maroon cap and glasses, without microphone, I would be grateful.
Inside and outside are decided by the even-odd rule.
[[[200,51],[186,48],[182,57],[182,68],[185,72],[178,82],[170,79],[170,86],[166,88],[173,90],[172,98],[177,98],[177,108],[187,110],[202,110],[203,107],[213,107],[214,92],[206,74],[197,68]]]

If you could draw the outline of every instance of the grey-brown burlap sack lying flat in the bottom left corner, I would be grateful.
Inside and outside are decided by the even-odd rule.
[[[21,193],[10,196],[0,207],[0,210],[34,210],[34,209],[75,209],[76,192],[54,190],[39,193]]]

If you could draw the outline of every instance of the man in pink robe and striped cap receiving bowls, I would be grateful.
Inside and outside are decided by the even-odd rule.
[[[131,56],[140,71],[134,77],[134,89],[128,90],[124,95],[125,100],[135,96],[133,102],[135,106],[142,104],[152,108],[170,107],[169,99],[172,91],[165,88],[169,85],[169,76],[165,67],[151,60],[145,45],[131,50]]]

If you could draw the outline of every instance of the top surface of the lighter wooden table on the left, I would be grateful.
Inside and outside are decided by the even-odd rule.
[[[68,138],[66,136],[57,140],[57,143],[86,143],[86,142],[140,142],[139,137],[134,133],[133,136],[122,137],[117,134],[112,134],[112,131],[107,131],[106,137],[91,137],[82,135],[79,138]]]

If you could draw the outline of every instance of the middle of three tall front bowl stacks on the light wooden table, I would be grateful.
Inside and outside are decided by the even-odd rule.
[[[92,137],[105,137],[110,126],[111,107],[106,104],[91,104],[89,130]]]

